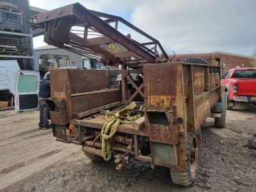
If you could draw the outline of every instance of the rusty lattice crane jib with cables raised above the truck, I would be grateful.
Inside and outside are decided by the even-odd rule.
[[[159,63],[169,60],[159,41],[127,20],[88,10],[79,3],[40,13],[35,17],[38,28],[45,29],[44,41],[47,44],[101,61],[105,65],[117,66],[118,63],[125,63],[130,67],[138,67],[139,63],[145,61]],[[113,23],[115,28],[111,26]],[[118,30],[120,24],[130,28],[130,33],[132,31],[144,36],[146,42],[133,40],[130,33],[122,34]],[[72,29],[73,26],[84,29]],[[162,52],[163,58],[160,58],[158,50]],[[137,58],[129,60],[131,57]],[[130,63],[126,63],[127,61]],[[130,65],[132,63],[135,65]]]

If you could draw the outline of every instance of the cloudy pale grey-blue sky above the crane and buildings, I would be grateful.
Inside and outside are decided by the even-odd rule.
[[[224,51],[252,55],[256,49],[256,0],[29,0],[52,10],[79,2],[124,17],[177,54]],[[34,47],[45,45],[42,36]]]

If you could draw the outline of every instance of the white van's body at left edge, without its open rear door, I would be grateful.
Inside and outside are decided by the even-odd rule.
[[[0,100],[11,99],[15,93],[17,71],[20,70],[16,60],[0,60]]]

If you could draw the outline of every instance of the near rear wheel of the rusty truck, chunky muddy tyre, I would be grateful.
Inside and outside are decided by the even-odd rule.
[[[202,134],[200,128],[198,128],[196,132],[189,132],[186,154],[186,170],[170,170],[174,184],[190,186],[195,182],[201,161],[201,143]]]

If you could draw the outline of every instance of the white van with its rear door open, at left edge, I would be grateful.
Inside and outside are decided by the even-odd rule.
[[[20,70],[16,60],[0,60],[0,100],[8,101],[15,111],[38,108],[39,72]]]

